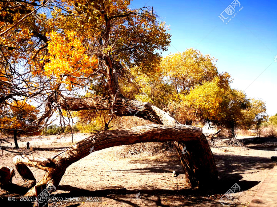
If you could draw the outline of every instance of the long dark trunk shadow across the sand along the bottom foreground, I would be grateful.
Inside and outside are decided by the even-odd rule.
[[[195,206],[202,204],[207,206],[221,206],[219,199],[214,199],[207,196],[207,193],[195,188],[186,188],[181,190],[168,190],[168,189],[134,189],[127,190],[126,188],[107,187],[104,190],[85,190],[82,188],[73,187],[70,185],[58,186],[58,190],[70,191],[70,193],[59,193],[57,197],[80,197],[92,196],[102,197],[120,202],[122,205],[127,204],[130,206]],[[135,196],[140,193],[140,198]],[[224,192],[225,193],[225,192]],[[164,201],[167,202],[164,202]],[[174,203],[181,203],[181,205],[174,205]],[[165,204],[168,203],[168,204]],[[239,204],[233,204],[238,206]]]

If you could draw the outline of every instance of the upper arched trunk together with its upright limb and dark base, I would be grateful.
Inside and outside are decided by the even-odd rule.
[[[108,28],[107,31],[109,31],[110,19],[106,19],[106,27]],[[106,33],[105,41],[108,39],[109,32]],[[139,102],[125,98],[119,92],[117,70],[109,54],[100,55],[98,59],[100,61],[99,63],[101,63],[101,67],[103,66],[103,68],[105,68],[105,77],[108,81],[107,92],[109,92],[111,97],[116,98],[115,101],[113,102],[113,98],[111,97],[70,98],[55,92],[54,95],[49,98],[48,102],[46,102],[45,114],[35,121],[37,124],[46,117],[49,117],[53,113],[53,108],[55,107],[71,111],[80,111],[86,109],[111,110],[113,106],[113,111],[116,111],[115,115],[117,116],[136,116],[152,121],[155,124],[179,125],[179,122],[176,121],[174,117],[156,106],[147,102]],[[201,133],[197,140],[190,140],[189,142],[176,140],[175,137],[171,137],[171,140],[178,152],[180,162],[185,172],[186,182],[191,183],[192,186],[207,186],[208,188],[214,186],[215,182],[218,180],[218,171],[206,137]],[[185,148],[188,149],[186,153],[184,153]],[[74,154],[74,156],[78,158],[79,155]],[[51,176],[49,173],[46,174]]]

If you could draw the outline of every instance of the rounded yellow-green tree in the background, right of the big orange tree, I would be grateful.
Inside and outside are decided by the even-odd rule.
[[[162,59],[154,74],[139,74],[133,68],[139,90],[134,85],[126,87],[126,93],[147,93],[148,102],[166,109],[182,124],[209,122],[226,128],[230,141],[235,138],[235,128],[258,130],[267,118],[265,104],[231,89],[231,76],[219,73],[215,62],[214,57],[192,48],[171,54]]]

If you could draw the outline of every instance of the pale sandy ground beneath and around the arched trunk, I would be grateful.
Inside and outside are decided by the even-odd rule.
[[[89,136],[74,134],[74,143]],[[235,183],[240,187],[235,194],[237,199],[224,201],[230,206],[247,206],[253,199],[266,175],[276,164],[271,156],[277,156],[274,148],[276,138],[253,137],[243,138],[246,145],[229,147],[222,143],[223,138],[215,138],[222,148],[211,148],[219,171],[219,183],[216,190],[200,191],[185,185],[185,178],[175,152],[165,152],[159,155],[122,156],[122,146],[96,151],[87,157],[73,163],[54,192],[57,197],[99,196],[102,203],[58,203],[49,206],[223,206],[219,198]],[[19,141],[20,151],[34,157],[51,157],[60,152],[62,147],[70,146],[71,135],[60,139],[56,136],[43,138],[25,138]],[[26,150],[26,142],[30,142],[30,150]],[[2,144],[10,146],[8,143]],[[15,150],[11,148],[11,150]],[[12,166],[15,153],[0,151],[0,165]],[[179,173],[171,177],[171,170]],[[31,168],[35,178],[40,180],[42,170]],[[16,171],[13,183],[22,185],[23,180]],[[22,192],[20,192],[22,193]],[[139,195],[138,195],[139,194]],[[20,194],[0,190],[0,202],[15,206],[16,201],[7,201],[8,197]],[[138,197],[138,198],[136,198]],[[12,203],[14,202],[14,203]],[[22,204],[23,201],[18,204]],[[31,203],[24,203],[32,206]],[[17,205],[18,206],[18,205]]]

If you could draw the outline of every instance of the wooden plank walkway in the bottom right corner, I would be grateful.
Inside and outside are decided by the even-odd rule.
[[[277,206],[277,165],[273,167],[248,207]]]

